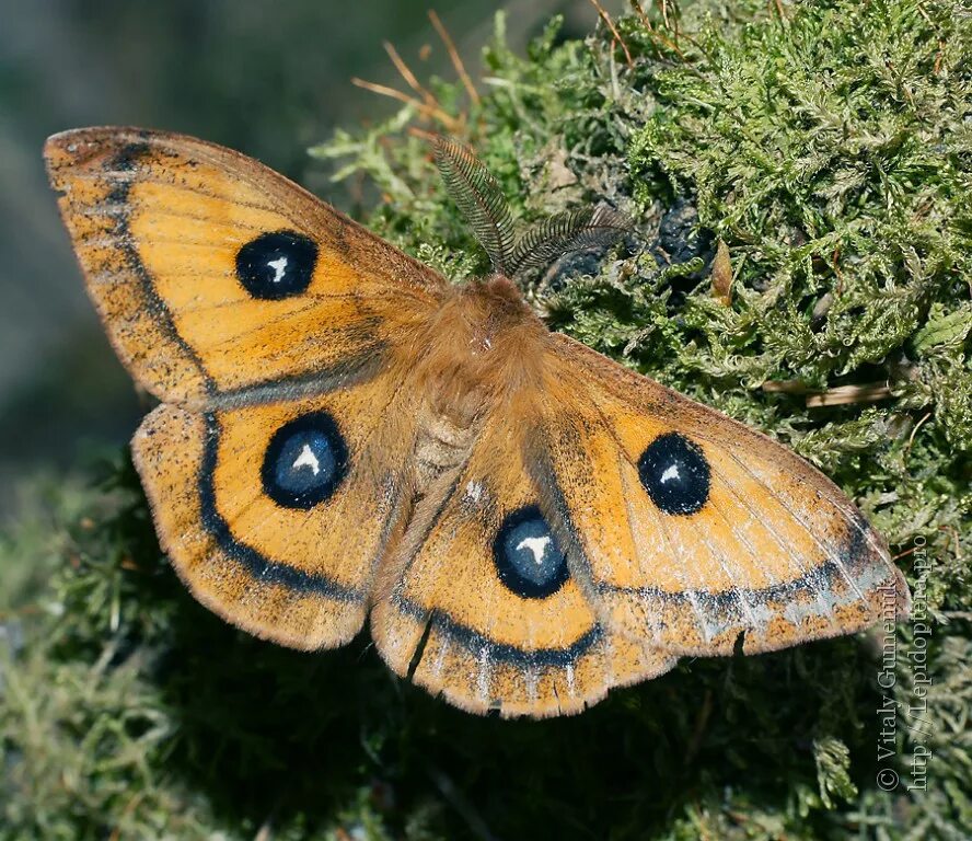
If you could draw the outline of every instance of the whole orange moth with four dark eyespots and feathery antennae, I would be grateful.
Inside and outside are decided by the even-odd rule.
[[[549,332],[514,279],[611,211],[518,235],[440,170],[493,273],[452,285],[254,160],[189,137],[51,137],[88,291],[160,405],[132,441],[205,606],[381,657],[474,713],[577,713],[680,657],[848,634],[909,604],[881,538],[785,447]]]

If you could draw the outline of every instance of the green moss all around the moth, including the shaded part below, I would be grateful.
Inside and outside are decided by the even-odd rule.
[[[632,67],[606,30],[552,25],[512,55],[500,16],[482,100],[432,90],[520,215],[605,198],[637,220],[625,246],[533,278],[555,327],[795,447],[888,535],[918,597],[893,686],[877,635],[683,663],[572,719],[472,718],[367,641],[309,657],[223,625],[117,465],[48,522],[53,544],[24,526],[0,545],[4,580],[57,571],[2,619],[0,838],[972,834],[972,15],[783,10],[632,14]],[[482,257],[416,116],[314,151],[377,182],[374,230],[461,277]],[[808,406],[876,382],[878,402]]]

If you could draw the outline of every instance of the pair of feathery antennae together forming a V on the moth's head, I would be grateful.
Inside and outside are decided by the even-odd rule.
[[[516,278],[571,251],[610,245],[632,230],[624,214],[602,205],[555,214],[518,231],[499,183],[471,149],[440,136],[435,154],[445,189],[497,275]]]

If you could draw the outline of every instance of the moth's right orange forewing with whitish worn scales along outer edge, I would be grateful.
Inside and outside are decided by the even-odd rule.
[[[678,654],[773,650],[906,611],[853,503],[785,447],[555,336],[534,465],[611,627]]]

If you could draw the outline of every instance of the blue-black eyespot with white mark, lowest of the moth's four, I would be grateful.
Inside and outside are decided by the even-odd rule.
[[[507,515],[493,557],[499,579],[524,599],[553,596],[570,575],[564,552],[535,505]]]

